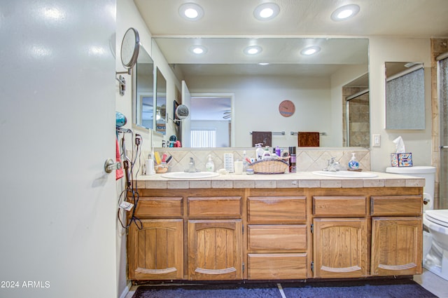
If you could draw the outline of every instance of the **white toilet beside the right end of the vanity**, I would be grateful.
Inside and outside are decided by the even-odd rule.
[[[390,167],[386,172],[423,177],[423,267],[448,280],[448,210],[433,210],[435,167]]]

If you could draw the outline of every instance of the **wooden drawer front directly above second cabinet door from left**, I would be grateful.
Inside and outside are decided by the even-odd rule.
[[[241,196],[188,198],[190,217],[241,217]]]

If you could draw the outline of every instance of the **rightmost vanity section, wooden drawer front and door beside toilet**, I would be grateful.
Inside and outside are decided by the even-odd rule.
[[[420,274],[423,196],[372,196],[372,276]]]

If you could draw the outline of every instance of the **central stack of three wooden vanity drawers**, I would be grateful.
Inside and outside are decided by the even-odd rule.
[[[247,198],[248,279],[307,278],[306,196],[277,194]]]

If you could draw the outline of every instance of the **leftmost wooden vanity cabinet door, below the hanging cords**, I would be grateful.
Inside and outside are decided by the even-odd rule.
[[[130,279],[183,279],[183,220],[146,219],[129,229]]]

